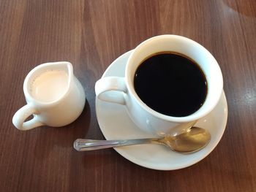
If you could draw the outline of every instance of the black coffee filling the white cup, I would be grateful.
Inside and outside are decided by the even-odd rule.
[[[151,109],[184,117],[206,100],[206,77],[195,61],[179,53],[157,53],[146,58],[135,73],[135,91]]]

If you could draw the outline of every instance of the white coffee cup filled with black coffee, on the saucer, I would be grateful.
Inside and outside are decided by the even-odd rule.
[[[177,35],[140,43],[128,58],[124,77],[103,77],[95,84],[97,99],[124,105],[141,130],[173,136],[211,112],[222,88],[214,56]]]

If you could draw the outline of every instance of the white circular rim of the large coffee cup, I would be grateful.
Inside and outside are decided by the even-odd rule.
[[[203,49],[203,51],[208,54],[209,56],[211,56],[212,61],[214,62],[214,64],[217,66],[217,73],[219,74],[219,90],[217,90],[214,94],[215,94],[215,99],[214,101],[211,101],[211,103],[208,104],[208,107],[206,110],[200,111],[197,110],[197,112],[194,112],[190,115],[184,116],[184,117],[174,117],[174,116],[169,116],[169,115],[164,115],[160,112],[157,112],[153,109],[151,109],[150,107],[148,107],[138,96],[138,94],[135,91],[135,88],[132,84],[132,80],[131,78],[129,78],[129,74],[128,74],[128,68],[129,66],[132,64],[131,60],[132,57],[135,55],[136,52],[138,52],[138,50],[140,50],[141,47],[143,47],[143,45],[146,45],[148,43],[151,43],[152,41],[158,40],[158,39],[180,39],[181,41],[187,41],[190,42],[198,47],[200,47],[201,49]],[[135,47],[134,50],[132,50],[131,55],[129,55],[128,61],[127,61],[127,66],[125,69],[125,77],[124,77],[126,83],[127,83],[127,89],[129,91],[129,93],[131,93],[131,96],[133,97],[133,99],[137,102],[137,104],[140,105],[140,107],[143,108],[143,110],[146,110],[147,112],[149,112],[151,115],[153,115],[154,117],[157,117],[159,119],[163,119],[163,120],[167,120],[167,121],[173,121],[176,123],[185,123],[185,122],[189,122],[189,121],[193,121],[193,120],[198,120],[200,118],[203,118],[205,115],[207,115],[209,112],[211,112],[211,110],[214,109],[214,107],[217,105],[220,96],[222,94],[222,90],[223,90],[223,77],[222,77],[222,72],[221,69],[219,67],[219,64],[217,63],[216,59],[214,58],[214,56],[205,48],[203,47],[203,45],[200,45],[199,43],[195,42],[192,39],[189,39],[187,37],[182,37],[182,36],[178,36],[175,34],[164,34],[164,35],[159,35],[156,37],[151,37],[150,39],[146,39],[145,41],[141,42],[140,45],[138,45],[137,47]],[[206,98],[207,99],[207,98]],[[200,107],[201,108],[201,107]]]

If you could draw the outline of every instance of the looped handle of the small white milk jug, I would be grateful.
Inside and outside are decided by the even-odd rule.
[[[20,110],[15,112],[15,115],[12,118],[13,125],[21,131],[27,131],[31,128],[36,128],[38,126],[44,125],[40,122],[37,118],[37,115],[34,115],[34,118],[31,120],[26,120],[29,118],[30,115],[37,113],[37,110],[31,106],[31,104],[26,104],[25,106],[21,107]]]

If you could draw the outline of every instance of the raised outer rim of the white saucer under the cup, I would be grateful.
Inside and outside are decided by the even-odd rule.
[[[105,77],[107,74],[108,74],[108,71],[109,71],[109,69],[111,69],[111,67],[113,67],[113,65],[115,65],[116,63],[118,63],[118,61],[119,60],[121,60],[121,58],[123,58],[123,57],[125,57],[125,56],[127,56],[127,55],[129,55],[129,54],[131,54],[132,53],[132,50],[129,50],[128,52],[126,52],[126,53],[124,53],[124,54],[122,54],[122,55],[120,55],[118,58],[116,58],[116,60],[115,61],[113,61],[111,64],[110,64],[110,66],[108,66],[108,68],[105,70],[105,72],[102,74],[102,77]],[[100,123],[100,121],[99,121],[99,107],[98,107],[98,105],[99,105],[99,103],[98,103],[98,101],[99,101],[99,99],[95,99],[95,108],[96,108],[96,115],[97,115],[97,120],[98,120],[98,123],[99,123],[99,128],[100,128],[100,130],[102,131],[102,129],[103,129],[103,131],[102,131],[102,134],[104,135],[104,137],[106,138],[106,139],[108,139],[108,137],[106,137],[105,135],[105,128],[102,128],[103,127],[103,125],[102,125],[102,123]],[[188,167],[188,166],[192,166],[193,164],[197,164],[197,162],[199,162],[199,161],[202,161],[203,160],[203,158],[206,158],[206,156],[208,156],[214,149],[215,149],[215,147],[217,147],[217,145],[219,144],[219,141],[222,139],[222,136],[223,136],[223,134],[224,134],[224,132],[225,132],[225,128],[226,128],[226,125],[227,125],[227,115],[228,115],[228,108],[227,108],[227,98],[226,98],[226,96],[225,96],[225,91],[224,90],[222,90],[222,96],[221,96],[221,98],[219,99],[219,101],[218,101],[218,104],[219,104],[219,102],[221,102],[221,101],[223,101],[224,102],[224,105],[223,105],[223,109],[225,109],[225,112],[224,112],[224,116],[223,116],[223,118],[222,118],[222,124],[223,124],[223,126],[222,126],[222,130],[220,131],[219,130],[219,138],[217,138],[216,137],[216,141],[215,141],[215,143],[214,143],[214,145],[209,149],[209,150],[207,150],[201,157],[199,157],[199,158],[197,158],[197,160],[196,161],[191,161],[191,162],[189,162],[188,164],[186,164],[186,165],[181,165],[181,166],[175,166],[175,167],[173,167],[173,168],[171,168],[171,166],[167,166],[167,167],[159,167],[159,166],[152,166],[152,164],[151,165],[148,165],[148,164],[141,164],[141,161],[138,161],[137,160],[137,158],[135,157],[135,156],[132,156],[132,155],[127,155],[126,153],[124,153],[123,152],[123,150],[124,150],[124,148],[121,150],[121,148],[120,149],[118,149],[118,148],[116,148],[116,147],[114,147],[114,150],[116,150],[116,152],[117,153],[119,153],[120,155],[122,155],[124,158],[126,158],[128,161],[131,161],[132,163],[134,163],[134,164],[137,164],[137,165],[139,165],[139,166],[143,166],[143,167],[146,167],[146,168],[148,168],[148,169],[155,169],[155,170],[165,170],[165,171],[167,171],[167,170],[176,170],[176,169],[184,169],[184,168],[186,168],[186,167]],[[214,107],[214,109],[215,109],[215,107]],[[214,110],[213,109],[213,110]],[[211,112],[209,112],[209,114],[211,114]],[[129,116],[129,115],[128,115]],[[132,121],[132,120],[131,120]],[[133,122],[132,122],[133,123]],[[133,123],[134,124],[134,123]],[[197,153],[197,152],[196,152]],[[189,154],[188,154],[189,155]],[[156,164],[157,165],[157,164]]]

